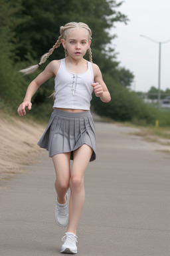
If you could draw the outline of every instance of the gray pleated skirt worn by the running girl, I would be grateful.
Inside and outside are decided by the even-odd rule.
[[[70,159],[73,160],[73,151],[83,144],[93,149],[90,161],[94,161],[96,159],[96,133],[90,110],[70,113],[54,109],[38,145],[49,152],[49,157],[71,152]]]

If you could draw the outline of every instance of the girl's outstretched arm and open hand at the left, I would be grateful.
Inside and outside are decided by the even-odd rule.
[[[33,95],[35,95],[36,91],[39,89],[39,87],[42,85],[42,83],[44,83],[45,81],[50,79],[50,77],[56,76],[59,66],[60,66],[60,61],[51,61],[46,66],[44,71],[42,71],[42,73],[40,73],[29,84],[29,87],[27,88],[27,92],[25,94],[23,103],[21,103],[21,105],[19,105],[19,108],[17,110],[17,113],[20,116],[26,115],[26,111],[25,111],[26,107],[28,107],[29,110],[31,109],[31,106],[32,106],[31,99],[32,99]]]

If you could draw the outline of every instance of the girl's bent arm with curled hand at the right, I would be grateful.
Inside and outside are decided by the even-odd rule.
[[[107,103],[111,100],[110,92],[108,91],[108,88],[103,81],[102,73],[98,65],[92,63],[92,67],[94,71],[94,83],[92,84],[94,93],[96,97],[100,97],[101,101]]]

